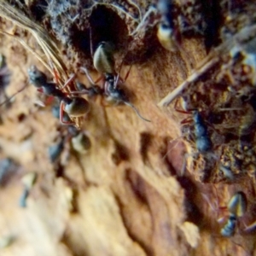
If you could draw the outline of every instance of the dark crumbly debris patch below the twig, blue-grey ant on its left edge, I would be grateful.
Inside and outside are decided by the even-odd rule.
[[[252,41],[255,39],[247,44]],[[187,111],[178,110],[176,103],[179,112],[193,110],[194,125],[183,133],[185,139],[195,142],[192,146],[205,162],[212,162],[202,171],[207,175],[204,182],[233,183],[255,176],[255,55],[247,45],[239,49],[235,45],[230,55],[223,57],[220,68],[212,68],[211,74],[204,74],[183,91],[182,105]]]

